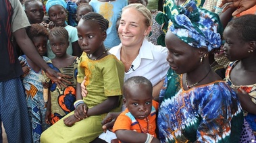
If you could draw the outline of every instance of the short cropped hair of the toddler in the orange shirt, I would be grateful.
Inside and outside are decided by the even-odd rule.
[[[124,82],[123,85],[123,95],[126,97],[126,90],[130,90],[129,87],[133,87],[134,85],[146,85],[150,90],[153,90],[153,85],[149,79],[142,76],[130,77]]]

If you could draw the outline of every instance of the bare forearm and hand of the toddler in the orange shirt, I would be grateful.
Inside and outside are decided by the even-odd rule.
[[[147,134],[138,133],[132,130],[117,130],[116,136],[118,140],[122,142],[133,142],[133,143],[140,143],[145,142],[147,140]],[[153,138],[151,143],[158,143],[160,142],[157,138]]]

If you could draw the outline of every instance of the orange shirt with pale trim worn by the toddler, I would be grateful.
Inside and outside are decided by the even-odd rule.
[[[149,128],[149,134],[154,135],[157,138],[157,134],[155,134],[156,129],[156,113],[158,110],[158,102],[152,102],[151,113],[148,116],[148,124],[146,120],[135,119],[135,117],[128,111],[126,108],[117,118],[114,126],[113,132],[117,130],[136,130],[136,132],[147,133],[147,129]],[[141,128],[141,130],[140,130]]]

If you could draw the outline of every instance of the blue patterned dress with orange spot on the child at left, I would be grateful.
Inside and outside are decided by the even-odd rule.
[[[19,60],[24,61],[26,66],[30,67],[25,55],[20,56]],[[51,60],[46,56],[43,56],[43,60],[48,64],[51,63]],[[28,75],[22,79],[22,84],[26,93],[28,115],[32,124],[33,142],[40,142],[42,132],[49,128],[49,125],[45,123],[45,113],[47,108],[43,99],[43,84],[41,79],[39,79],[42,75],[47,82],[50,81],[43,70],[36,73],[32,68],[30,68]]]

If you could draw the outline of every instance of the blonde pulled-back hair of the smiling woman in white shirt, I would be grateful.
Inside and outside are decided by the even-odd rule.
[[[132,3],[122,9],[122,12],[128,8],[134,8],[145,17],[145,25],[147,27],[152,26],[152,15],[149,9],[141,3]]]

